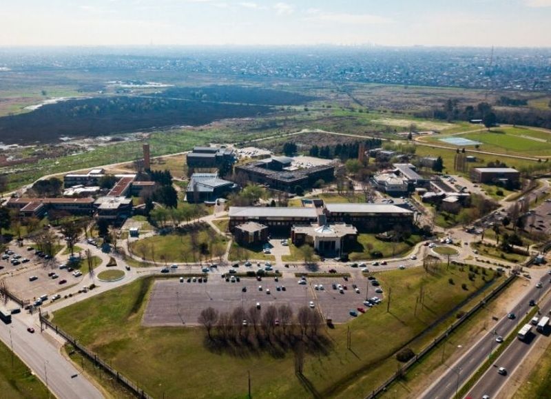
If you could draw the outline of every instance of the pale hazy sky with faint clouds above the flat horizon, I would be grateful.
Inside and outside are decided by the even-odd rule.
[[[0,45],[551,47],[551,0],[3,0]]]

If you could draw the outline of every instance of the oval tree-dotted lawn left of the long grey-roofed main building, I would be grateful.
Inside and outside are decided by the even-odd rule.
[[[211,227],[200,225],[196,227],[196,238],[191,233],[155,235],[134,241],[130,249],[134,255],[145,260],[181,263],[217,258],[224,254],[226,243],[226,238]]]

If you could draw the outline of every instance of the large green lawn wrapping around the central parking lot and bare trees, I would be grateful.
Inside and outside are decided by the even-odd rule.
[[[196,398],[242,398],[247,392],[247,371],[251,371],[252,393],[257,398],[310,398],[311,390],[324,398],[357,398],[395,371],[393,354],[397,349],[484,285],[481,278],[472,282],[467,271],[455,267],[436,274],[415,268],[382,272],[377,277],[384,289],[393,288],[390,312],[384,303],[349,323],[352,351],[346,349],[348,325],[329,329],[333,346],[324,354],[306,355],[303,374],[310,389],[295,377],[294,357],[287,352],[232,356],[227,351],[206,349],[201,329],[141,327],[150,278],[56,311],[54,323],[156,397],[193,390]],[[448,283],[451,277],[455,285]],[[468,291],[461,289],[461,283]],[[414,316],[421,285],[425,306]],[[186,378],[181,376],[183,369]],[[216,376],[216,384],[197,383],[207,374]]]

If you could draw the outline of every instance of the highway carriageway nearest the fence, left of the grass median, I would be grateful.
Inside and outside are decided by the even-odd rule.
[[[482,363],[486,360],[488,355],[495,349],[495,332],[503,337],[507,336],[513,329],[515,329],[520,323],[523,316],[526,315],[530,309],[530,299],[538,300],[539,296],[543,295],[545,291],[550,289],[549,276],[545,275],[541,278],[542,283],[545,285],[539,289],[536,287],[537,279],[534,279],[528,288],[526,294],[521,298],[519,303],[510,309],[510,312],[514,313],[517,318],[510,320],[506,315],[497,322],[497,324],[490,329],[475,345],[473,345],[464,356],[461,356],[457,362],[448,366],[448,370],[444,372],[431,385],[421,398],[424,399],[447,399],[453,398],[457,389],[461,388],[472,376],[472,374],[479,369]],[[479,396],[481,397],[481,396]]]

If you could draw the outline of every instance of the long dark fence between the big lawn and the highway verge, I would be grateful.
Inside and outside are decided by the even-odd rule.
[[[437,345],[439,345],[440,342],[446,339],[450,333],[455,331],[455,329],[461,326],[470,316],[475,314],[481,307],[486,305],[488,300],[492,299],[500,291],[502,291],[505,287],[507,287],[507,285],[509,285],[512,282],[512,280],[514,280],[515,277],[517,277],[515,274],[511,274],[505,281],[503,281],[503,283],[501,283],[498,287],[495,287],[495,289],[493,289],[492,292],[490,292],[490,294],[486,295],[479,303],[477,303],[477,305],[472,307],[472,309],[466,312],[466,314],[461,316],[461,318],[457,319],[455,323],[453,323],[453,325],[450,325],[450,327],[448,327],[446,331],[444,331],[437,338],[435,338],[435,340],[431,342],[425,349],[419,352],[419,354],[415,355],[415,358],[408,360],[408,362],[406,362],[405,365],[397,369],[397,371],[395,372],[395,374],[393,374],[391,378],[388,378],[388,380],[384,381],[379,387],[377,387],[376,389],[373,389],[373,391],[368,396],[366,396],[365,399],[376,398],[378,395],[380,395],[380,393],[383,393],[384,391],[386,391],[386,388],[388,388],[398,378],[406,374],[408,369],[413,367],[415,363],[417,363],[419,360],[424,358],[424,356],[429,354],[430,351],[432,351],[435,347],[437,347]]]

